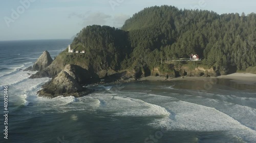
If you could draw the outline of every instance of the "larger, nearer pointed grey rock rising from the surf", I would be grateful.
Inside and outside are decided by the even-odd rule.
[[[43,85],[42,90],[37,94],[41,97],[54,98],[57,96],[81,96],[81,92],[86,91],[82,86],[66,71],[61,71],[58,76]]]

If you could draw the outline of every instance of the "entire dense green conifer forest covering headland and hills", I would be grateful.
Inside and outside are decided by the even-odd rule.
[[[256,66],[256,14],[219,15],[172,6],[150,7],[127,19],[121,30],[92,25],[72,43],[85,49],[94,69],[124,70],[136,65],[165,63],[199,54],[202,64],[221,74]],[[168,67],[168,66],[167,66]]]

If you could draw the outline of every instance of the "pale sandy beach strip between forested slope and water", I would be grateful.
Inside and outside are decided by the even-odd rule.
[[[230,79],[234,82],[240,82],[244,84],[256,84],[256,74],[251,73],[233,73],[229,75],[221,75],[218,77],[176,77],[176,78],[168,78],[161,76],[148,76],[138,79],[138,81],[178,81],[178,80],[205,80],[206,78],[216,78],[216,79]]]

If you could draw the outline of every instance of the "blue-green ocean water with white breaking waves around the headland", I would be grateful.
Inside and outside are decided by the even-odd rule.
[[[22,69],[44,50],[54,58],[69,43],[0,42],[0,142],[256,142],[256,84],[210,78],[137,81],[89,85],[97,92],[81,98],[37,97],[50,78],[29,79],[35,72]],[[5,85],[8,140],[3,135]]]

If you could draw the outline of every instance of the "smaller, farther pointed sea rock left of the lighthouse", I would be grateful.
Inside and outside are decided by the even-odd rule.
[[[52,58],[48,51],[44,51],[33,65],[31,71],[41,71],[52,64]]]

